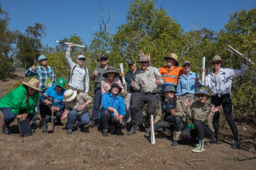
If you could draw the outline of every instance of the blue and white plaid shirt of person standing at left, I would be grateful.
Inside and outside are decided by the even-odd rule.
[[[26,71],[25,76],[26,77],[32,77],[37,75],[38,80],[39,80],[39,88],[41,90],[45,90],[46,89],[46,79],[48,77],[48,79],[50,79],[50,81],[52,82],[52,86],[55,85],[56,82],[56,76],[55,76],[55,72],[53,71],[52,67],[48,67],[46,66],[46,70],[43,69],[42,66],[38,66],[36,67],[36,69],[32,69],[32,67],[29,67],[29,69]]]

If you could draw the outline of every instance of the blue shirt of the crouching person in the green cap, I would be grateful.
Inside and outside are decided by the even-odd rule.
[[[63,109],[65,108],[65,101],[63,101],[65,89],[60,91],[60,94],[57,94],[57,90],[55,86],[50,86],[46,92],[43,93],[43,95],[40,97],[39,101],[45,101],[48,98],[48,101],[52,101],[52,98],[54,97],[54,106],[56,108]]]

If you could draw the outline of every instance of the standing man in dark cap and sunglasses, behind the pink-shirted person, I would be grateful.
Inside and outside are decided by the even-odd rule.
[[[95,68],[90,75],[90,79],[95,81],[95,96],[93,101],[93,108],[92,108],[92,116],[91,116],[91,125],[90,127],[95,127],[99,125],[99,115],[100,115],[100,101],[102,97],[101,92],[101,83],[103,77],[102,75],[107,71],[107,68],[110,67],[108,64],[108,57],[107,55],[100,56],[100,67]]]

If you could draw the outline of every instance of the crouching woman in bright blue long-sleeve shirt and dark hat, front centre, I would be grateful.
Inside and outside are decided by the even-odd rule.
[[[122,91],[119,84],[114,83],[111,85],[109,93],[102,95],[102,110],[100,112],[100,121],[102,124],[102,135],[107,137],[108,126],[114,125],[114,131],[117,135],[122,134],[122,128],[127,126],[127,120],[124,115],[126,114],[124,99],[118,94]]]

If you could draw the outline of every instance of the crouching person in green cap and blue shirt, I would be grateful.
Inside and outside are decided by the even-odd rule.
[[[42,118],[43,129],[42,132],[47,132],[47,120],[46,115],[53,115],[57,118],[56,125],[62,125],[60,117],[64,112],[65,102],[63,101],[63,96],[65,89],[65,79],[58,79],[56,86],[50,86],[46,92],[40,97],[40,115]],[[54,104],[52,104],[54,102]]]

